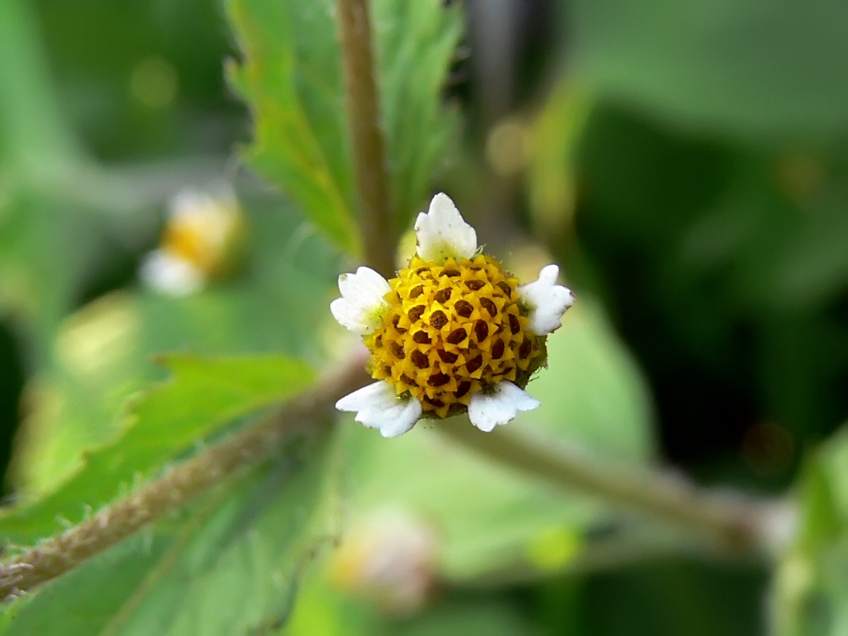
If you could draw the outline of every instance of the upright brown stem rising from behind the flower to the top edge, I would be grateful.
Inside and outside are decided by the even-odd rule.
[[[383,276],[393,276],[398,232],[392,214],[367,0],[338,0],[338,21],[365,262]]]

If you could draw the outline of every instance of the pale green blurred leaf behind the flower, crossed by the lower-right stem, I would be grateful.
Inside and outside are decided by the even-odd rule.
[[[646,388],[597,305],[581,296],[548,346],[550,368],[527,387],[543,405],[508,426],[545,444],[582,442],[625,460],[648,459]],[[566,566],[579,552],[572,548],[579,547],[585,530],[610,518],[608,510],[585,497],[504,468],[433,430],[471,426],[465,416],[421,421],[388,441],[352,421],[347,426],[356,514],[399,508],[431,523],[442,540],[446,577],[480,577],[513,567],[538,570],[543,563],[547,570],[550,561],[554,569]],[[550,559],[540,550],[552,550]]]

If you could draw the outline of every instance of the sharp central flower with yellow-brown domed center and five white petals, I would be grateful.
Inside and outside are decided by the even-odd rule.
[[[377,382],[346,395],[336,408],[391,438],[421,417],[467,412],[482,431],[538,408],[524,388],[546,362],[545,340],[574,304],[556,284],[559,268],[520,285],[477,249],[477,232],[439,193],[418,215],[416,254],[386,281],[360,267],[338,278],[342,298],[332,315],[363,336]]]

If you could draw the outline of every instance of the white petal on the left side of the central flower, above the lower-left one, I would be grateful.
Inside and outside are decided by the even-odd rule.
[[[392,291],[385,278],[368,267],[360,267],[355,274],[338,277],[338,291],[342,298],[330,304],[332,317],[352,332],[371,333],[382,321],[383,310],[388,307],[385,296]]]

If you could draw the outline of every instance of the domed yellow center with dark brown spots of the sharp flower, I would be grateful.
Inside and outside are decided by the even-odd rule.
[[[439,417],[501,380],[527,384],[540,338],[527,329],[518,281],[497,261],[416,256],[389,285],[383,324],[365,338],[372,377]]]

